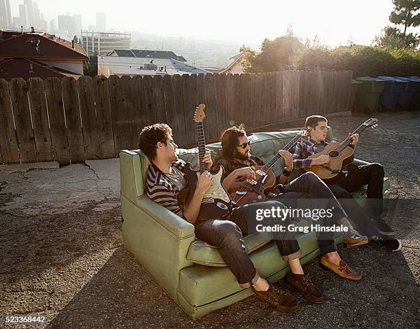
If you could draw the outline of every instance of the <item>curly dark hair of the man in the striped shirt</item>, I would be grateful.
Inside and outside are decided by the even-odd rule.
[[[172,129],[167,124],[145,126],[139,134],[139,148],[152,161],[156,157],[158,141],[166,145],[167,137],[169,136],[172,136]]]

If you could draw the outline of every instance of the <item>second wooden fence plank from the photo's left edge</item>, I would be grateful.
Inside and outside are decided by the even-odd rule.
[[[27,99],[27,82],[22,78],[11,79],[9,89],[21,161],[23,163],[36,162],[35,138],[30,104]]]

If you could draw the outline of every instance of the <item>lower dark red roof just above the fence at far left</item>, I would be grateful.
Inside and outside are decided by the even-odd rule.
[[[41,78],[44,80],[48,77],[57,77],[61,79],[65,76],[71,76],[75,79],[80,77],[78,74],[63,69],[57,69],[56,67],[48,67],[47,65],[36,63],[33,60],[27,60],[25,58],[0,60],[0,78],[5,80],[10,80],[12,78],[23,78],[23,80]]]

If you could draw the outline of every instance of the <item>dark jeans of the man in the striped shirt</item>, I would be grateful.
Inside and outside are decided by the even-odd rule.
[[[251,203],[233,209],[230,218],[203,220],[195,224],[196,237],[219,248],[226,266],[243,287],[249,286],[249,282],[255,282],[258,275],[246,253],[242,234],[244,236],[248,234],[248,220],[250,216],[255,218],[257,209],[271,209],[272,207],[283,207],[283,205],[279,201]],[[284,241],[286,248],[291,248],[289,245],[292,243],[293,240]]]

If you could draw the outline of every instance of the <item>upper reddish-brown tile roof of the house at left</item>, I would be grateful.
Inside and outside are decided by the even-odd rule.
[[[38,47],[37,43],[39,40]],[[38,50],[37,50],[38,48]],[[30,58],[34,60],[81,60],[88,57],[81,45],[49,34],[3,32],[0,58]]]

